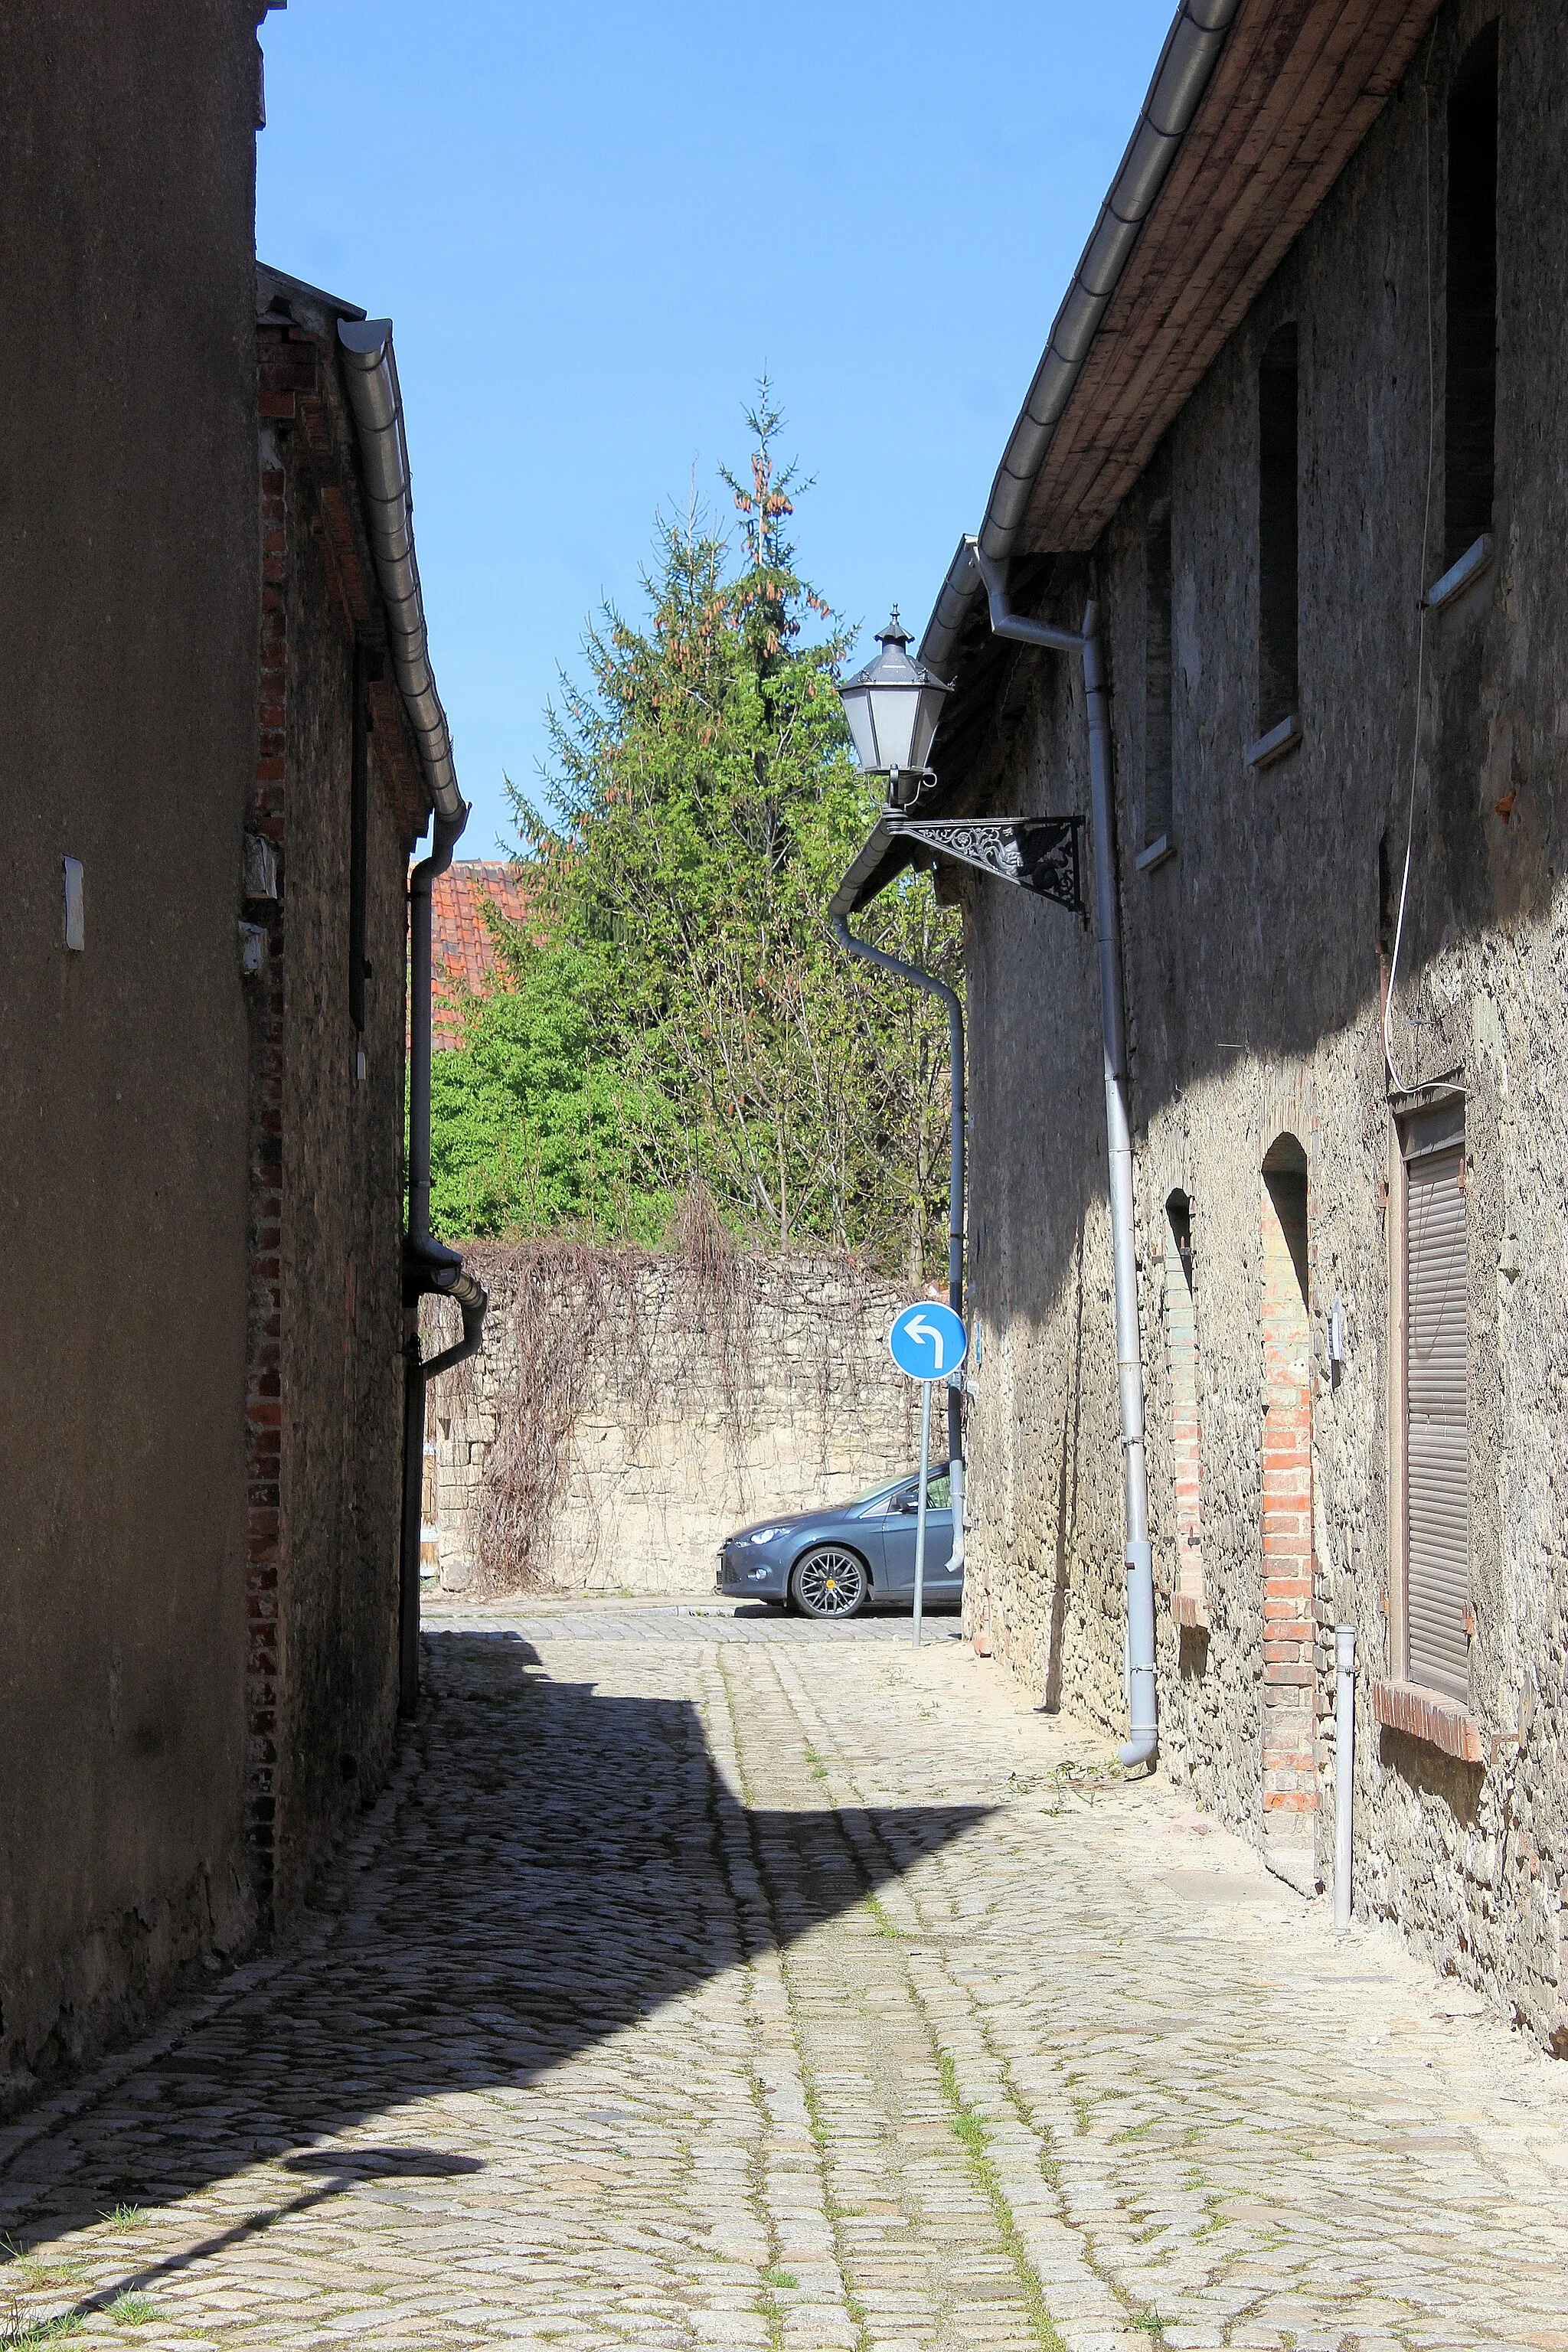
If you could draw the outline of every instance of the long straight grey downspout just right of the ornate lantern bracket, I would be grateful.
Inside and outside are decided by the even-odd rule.
[[[1084,607],[1081,630],[1025,621],[1006,600],[997,564],[978,541],[973,562],[985,583],[997,637],[1077,654],[1088,701],[1088,807],[1095,858],[1095,920],[1100,931],[1100,1044],[1105,1061],[1105,1143],[1110,1160],[1110,1244],[1117,1287],[1117,1395],[1121,1399],[1121,1486],[1126,1526],[1126,1635],[1131,1668],[1131,1738],[1124,1764],[1152,1764],[1159,1745],[1154,1693],[1154,1552],[1150,1545],[1150,1468],[1143,1439],[1143,1355],[1138,1348],[1138,1249],[1133,1240],[1133,1136],[1126,1110],[1126,1007],[1121,997],[1121,906],[1110,788],[1110,706],[1100,661],[1100,614]]]

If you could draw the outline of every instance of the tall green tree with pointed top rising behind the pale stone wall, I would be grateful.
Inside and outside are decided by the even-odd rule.
[[[609,607],[550,713],[548,814],[512,790],[550,946],[505,943],[512,988],[442,1056],[470,1190],[447,1190],[442,1141],[437,1204],[447,1230],[644,1235],[703,1185],[748,1237],[919,1277],[945,1258],[947,1030],[827,931],[875,818],[835,694],[849,633],[795,569],[806,485],[766,383],[748,423],[750,470],[724,473],[738,560],[696,501],[661,517],[646,619]],[[863,929],[959,967],[924,877]]]

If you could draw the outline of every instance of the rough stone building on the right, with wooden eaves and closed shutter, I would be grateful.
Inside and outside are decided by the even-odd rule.
[[[1554,0],[1187,0],[922,640],[952,694],[914,809],[1091,807],[1084,663],[992,623],[1079,633],[1093,600],[1159,1752],[1324,1884],[1354,1625],[1356,1910],[1559,2049],[1566,165]],[[844,903],[910,856],[882,823]],[[1114,929],[950,854],[938,882],[969,938],[969,1611],[1117,1724]]]

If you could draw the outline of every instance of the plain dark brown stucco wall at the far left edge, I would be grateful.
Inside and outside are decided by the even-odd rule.
[[[0,2096],[249,1922],[252,24],[0,12]]]

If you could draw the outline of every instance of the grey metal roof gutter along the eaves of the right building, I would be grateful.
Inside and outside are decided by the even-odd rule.
[[[1199,101],[1208,89],[1208,78],[1239,7],[1241,0],[1182,0],[1175,24],[1166,33],[1166,45],[1159,52],[1138,125],[1110,183],[1110,195],[1100,205],[1100,219],[1072,275],[1067,299],[1056,313],[1051,339],[1034,369],[1034,383],[992,482],[978,539],[980,550],[1004,572],[1018,543],[1046,454],[1056,440],[1056,428],[1067,412],[1093,339],[1100,332],[1100,320],[1121,282],[1138,233],[1166,183],[1166,174],[1199,111]],[[947,567],[947,579],[926,621],[926,633],[919,640],[919,659],[940,670],[943,677],[952,675],[959,628],[976,593],[978,576],[971,548],[973,541],[959,541],[959,550]]]

